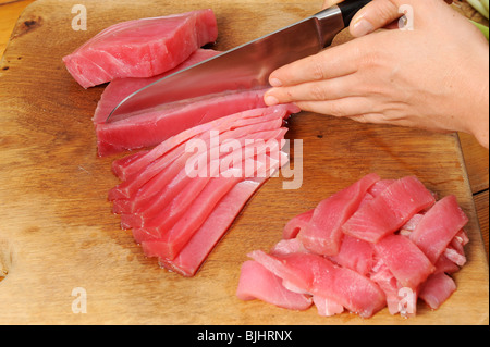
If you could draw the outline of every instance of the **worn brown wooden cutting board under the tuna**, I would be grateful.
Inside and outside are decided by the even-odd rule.
[[[102,87],[84,90],[61,58],[102,28],[200,8],[216,12],[225,50],[294,23],[322,1],[84,1],[87,30],[72,29],[77,1],[38,0],[14,29],[0,67],[0,323],[2,324],[488,324],[488,264],[455,135],[357,124],[313,113],[289,123],[303,139],[303,185],[270,179],[193,278],[159,269],[110,211],[114,158],[96,156],[90,117]],[[341,35],[336,44],[350,39]],[[298,160],[296,154],[293,163]],[[363,175],[417,175],[456,195],[470,222],[457,292],[437,311],[405,320],[320,318],[235,297],[247,252],[268,250],[284,224]],[[1,273],[0,273],[1,274]],[[79,312],[84,307],[86,312]]]

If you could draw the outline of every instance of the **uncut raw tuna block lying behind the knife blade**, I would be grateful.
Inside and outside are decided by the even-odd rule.
[[[63,62],[73,78],[88,88],[115,78],[159,75],[217,37],[212,10],[135,20],[106,28]]]

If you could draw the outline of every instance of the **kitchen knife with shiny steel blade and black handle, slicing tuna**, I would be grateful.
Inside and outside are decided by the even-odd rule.
[[[306,20],[162,77],[121,101],[106,123],[172,101],[225,90],[267,87],[269,75],[274,70],[330,46],[333,38],[350,25],[356,12],[370,1],[345,0]]]

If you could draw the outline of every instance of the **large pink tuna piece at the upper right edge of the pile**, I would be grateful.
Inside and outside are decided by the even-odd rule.
[[[424,215],[411,234],[411,239],[436,263],[467,223],[468,218],[457,203],[456,197],[446,196]]]

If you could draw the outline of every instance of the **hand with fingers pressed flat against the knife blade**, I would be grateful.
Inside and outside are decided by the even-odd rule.
[[[413,9],[412,30],[372,33],[397,21],[401,5]],[[350,29],[358,38],[273,72],[266,103],[466,132],[488,148],[489,46],[473,24],[442,0],[373,0]]]

